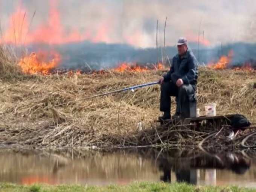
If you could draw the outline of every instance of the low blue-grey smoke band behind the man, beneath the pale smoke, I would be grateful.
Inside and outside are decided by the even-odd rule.
[[[198,55],[197,43],[190,43],[189,47]],[[79,43],[66,43],[60,45],[46,45],[46,44],[30,44],[26,46],[28,52],[39,52],[48,50],[48,52],[57,51],[61,55],[61,69],[81,69],[86,70],[88,66],[91,69],[101,70],[118,67],[123,62],[136,63],[139,65],[152,65],[161,61],[161,49],[145,48],[138,49],[128,44],[107,44],[107,43],[91,43],[90,41],[83,41]],[[249,43],[233,43],[223,46],[207,47],[201,46],[200,64],[215,63],[222,55],[228,55],[233,51],[233,56],[230,64],[233,66],[242,66],[245,63],[250,63],[256,68],[256,44]],[[172,63],[172,57],[177,54],[175,46],[166,47],[166,55]],[[167,61],[169,64],[169,61]]]

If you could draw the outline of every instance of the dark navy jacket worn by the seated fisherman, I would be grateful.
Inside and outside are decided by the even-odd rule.
[[[178,54],[172,58],[172,66],[169,72],[163,76],[164,81],[172,81],[176,84],[176,81],[181,78],[184,84],[196,85],[198,78],[197,66],[197,59],[193,52],[188,49],[182,58]]]

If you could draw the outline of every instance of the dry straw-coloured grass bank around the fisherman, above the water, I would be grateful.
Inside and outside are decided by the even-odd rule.
[[[184,129],[166,130],[160,115],[159,85],[93,99],[132,85],[155,81],[163,71],[53,74],[1,79],[0,145],[35,147],[197,145],[210,131],[186,139]],[[254,72],[200,69],[198,107],[215,102],[217,114],[241,113],[256,122]],[[174,105],[174,99],[172,99]],[[172,108],[174,113],[175,108]],[[168,138],[165,137],[168,135]],[[195,139],[196,138],[196,139]]]

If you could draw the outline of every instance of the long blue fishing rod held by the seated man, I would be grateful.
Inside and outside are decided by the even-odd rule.
[[[146,86],[150,86],[150,85],[155,85],[155,84],[159,84],[159,81],[154,81],[154,82],[150,82],[150,83],[146,83],[146,84],[141,84],[141,85],[135,85],[135,86],[123,88],[123,89],[120,89],[120,90],[110,91],[110,92],[107,92],[107,93],[96,94],[96,95],[93,95],[93,96],[90,96],[90,97],[87,97],[87,98],[78,99],[76,101],[70,101],[70,102],[54,105],[53,107],[57,107],[57,106],[64,105],[64,104],[70,104],[72,102],[77,102],[77,101],[81,101],[81,100],[85,100],[85,99],[96,98],[96,97],[104,96],[104,95],[108,95],[108,94],[119,93],[119,92],[127,91],[127,90],[131,90],[131,91],[134,92],[134,89],[136,89],[136,88],[142,88],[142,87],[146,87]]]

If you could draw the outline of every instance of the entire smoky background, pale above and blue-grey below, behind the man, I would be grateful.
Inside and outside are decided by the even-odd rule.
[[[196,42],[201,23],[200,63],[216,61],[233,49],[232,63],[239,64],[256,59],[256,46],[252,44],[256,43],[253,3],[254,0],[0,0],[0,21],[3,39],[8,43],[14,43],[14,39],[15,43],[23,41],[29,52],[57,50],[62,55],[62,67],[66,68],[90,65],[105,69],[120,62],[157,62],[153,48],[156,23],[158,20],[158,46],[163,46],[166,17],[165,44],[170,59],[177,54],[173,45],[179,37],[187,37],[198,55]],[[20,29],[21,23],[24,29]],[[14,28],[20,33],[16,31],[15,38]]]

